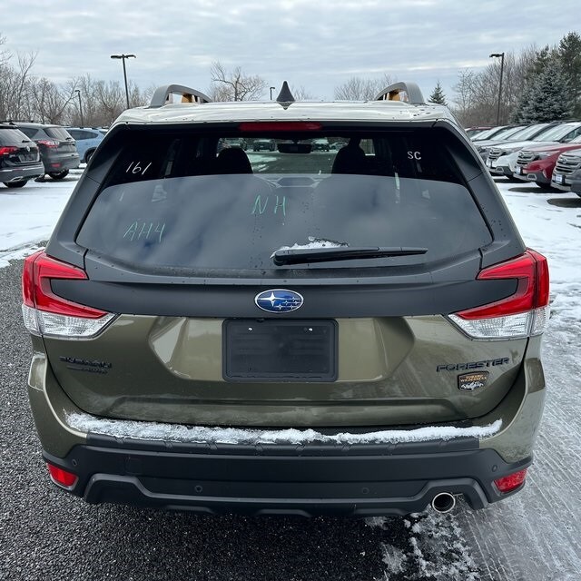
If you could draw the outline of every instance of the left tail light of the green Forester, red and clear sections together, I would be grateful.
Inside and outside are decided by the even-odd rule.
[[[35,335],[90,338],[114,318],[112,313],[94,309],[54,294],[55,279],[87,280],[86,273],[71,264],[55,261],[44,251],[25,260],[22,274],[25,327]]]

